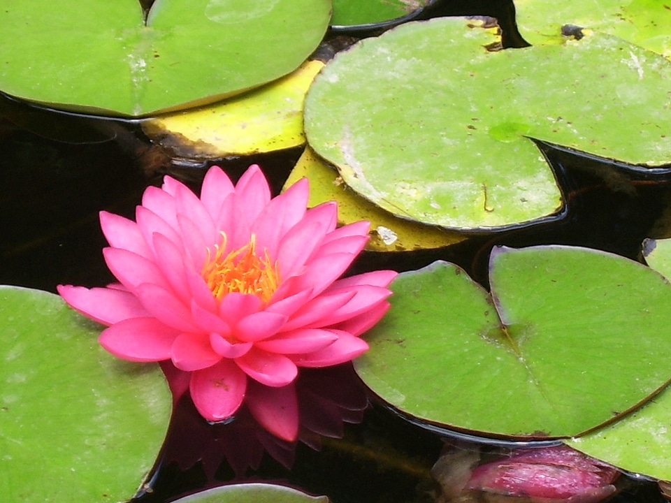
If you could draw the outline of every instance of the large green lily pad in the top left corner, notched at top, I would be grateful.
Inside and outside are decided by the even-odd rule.
[[[0,89],[66,110],[148,115],[286,75],[315,50],[329,0],[24,0],[0,9]]]

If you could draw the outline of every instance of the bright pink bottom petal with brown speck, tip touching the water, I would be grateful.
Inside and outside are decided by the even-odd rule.
[[[223,359],[191,376],[189,391],[196,409],[208,421],[235,414],[245,398],[247,376],[232,360]]]

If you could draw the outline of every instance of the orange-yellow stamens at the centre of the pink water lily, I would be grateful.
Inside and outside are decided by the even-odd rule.
[[[280,284],[279,268],[276,262],[270,260],[268,250],[264,250],[263,256],[257,256],[256,237],[252,234],[247,245],[224,256],[226,234],[222,232],[222,236],[222,245],[215,245],[214,256],[208,248],[208,260],[201,271],[215,298],[222,300],[231,292],[253,293],[263,302],[268,302]]]

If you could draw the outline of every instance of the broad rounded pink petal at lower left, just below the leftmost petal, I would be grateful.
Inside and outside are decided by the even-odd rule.
[[[171,356],[179,335],[154,318],[131,318],[106,328],[100,334],[101,346],[124,360],[160,361]]]

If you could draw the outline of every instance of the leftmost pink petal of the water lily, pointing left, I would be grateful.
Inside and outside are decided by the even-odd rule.
[[[58,293],[78,312],[103,325],[113,325],[129,318],[149,316],[138,298],[117,289],[59,285]]]

